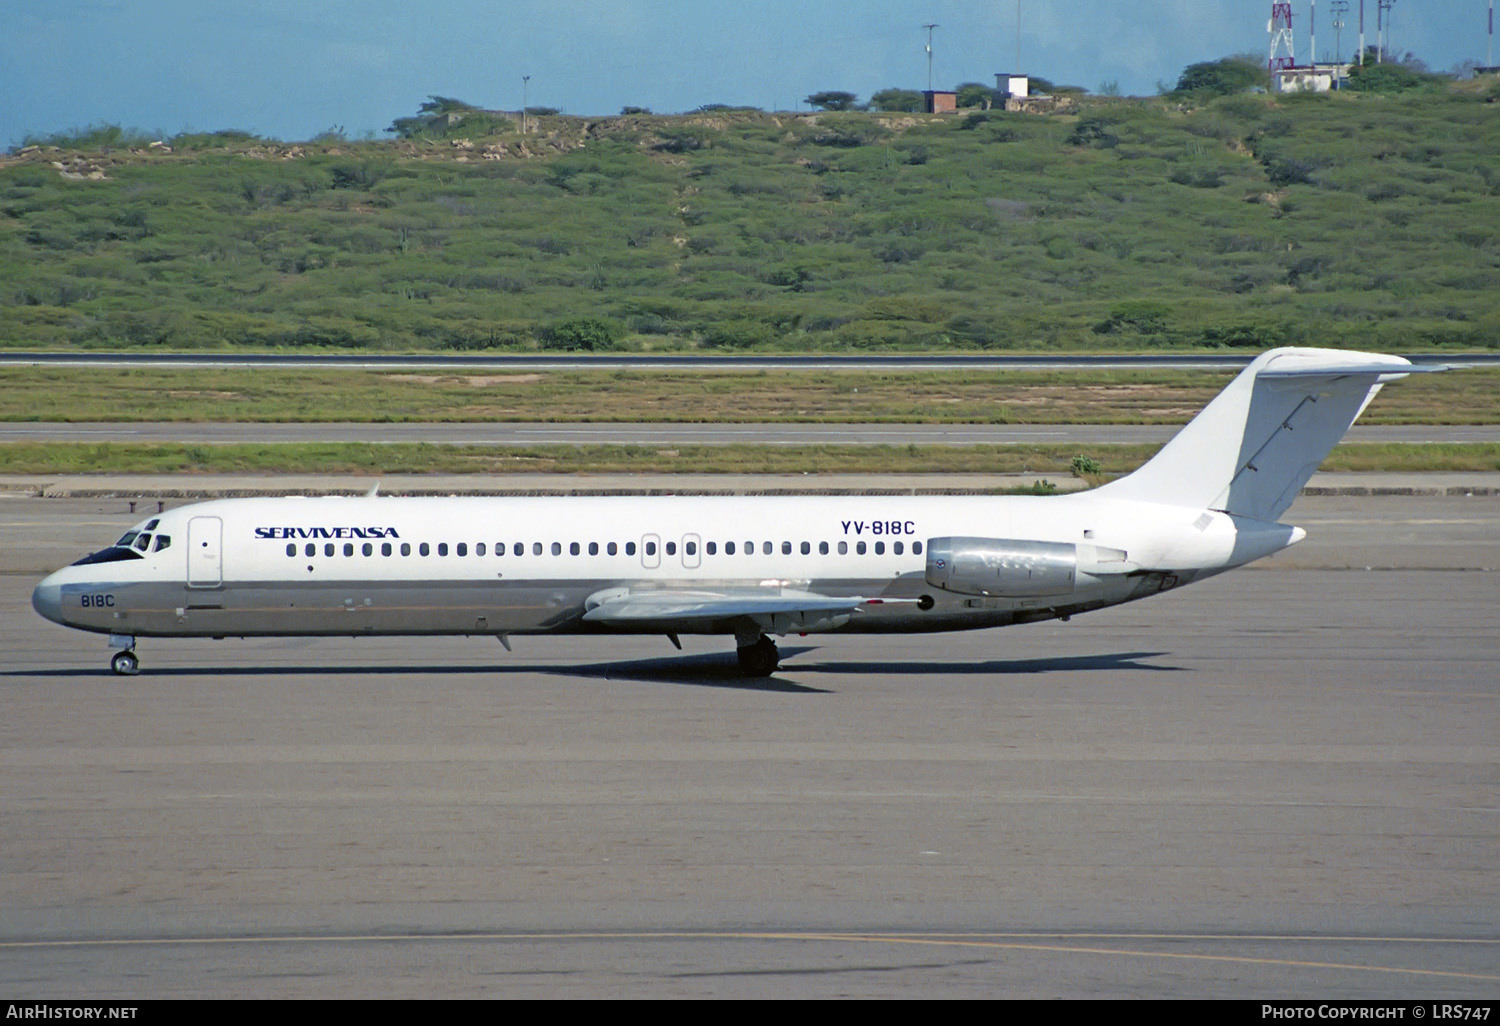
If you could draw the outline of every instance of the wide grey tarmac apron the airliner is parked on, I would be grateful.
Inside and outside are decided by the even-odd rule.
[[[9,993],[1500,987],[1494,498],[1304,496],[1262,567],[789,638],[768,681],[651,638],[162,640],[112,678],[28,567],[134,519],[0,500]]]

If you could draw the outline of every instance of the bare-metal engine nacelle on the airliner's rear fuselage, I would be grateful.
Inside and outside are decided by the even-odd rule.
[[[1071,594],[1078,546],[1022,538],[930,538],[927,584],[960,596],[1042,598]]]

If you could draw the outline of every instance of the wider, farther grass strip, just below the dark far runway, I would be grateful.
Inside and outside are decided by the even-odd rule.
[[[6,422],[1179,424],[1212,370],[549,370],[3,368]],[[1368,424],[1500,423],[1500,369],[1413,375]]]

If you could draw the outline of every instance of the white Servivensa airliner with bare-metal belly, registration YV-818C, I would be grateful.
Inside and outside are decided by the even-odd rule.
[[[42,580],[48,620],[136,638],[734,636],[1004,627],[1278,552],[1278,524],[1401,357],[1274,350],[1134,474],[1056,496],[244,498],[184,506]]]

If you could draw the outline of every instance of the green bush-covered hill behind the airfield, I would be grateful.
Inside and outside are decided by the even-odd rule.
[[[96,132],[0,159],[0,345],[1496,348],[1497,96]]]

